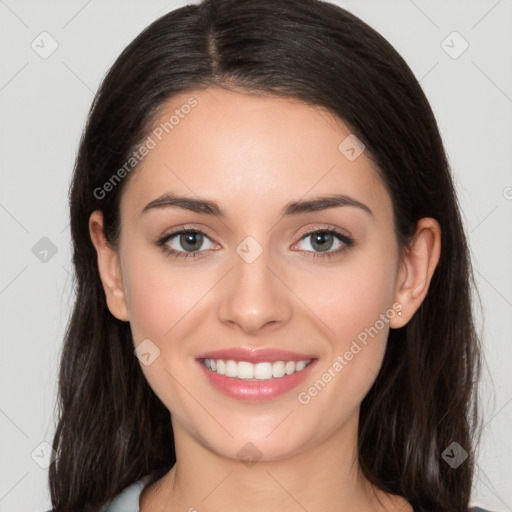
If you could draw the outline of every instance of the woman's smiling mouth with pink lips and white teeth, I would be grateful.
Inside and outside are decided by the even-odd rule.
[[[256,402],[296,388],[310,375],[318,358],[281,350],[236,348],[203,354],[196,361],[216,391],[238,401]]]

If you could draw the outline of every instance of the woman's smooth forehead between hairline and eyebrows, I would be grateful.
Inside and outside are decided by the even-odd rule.
[[[365,153],[349,159],[342,151],[353,137],[347,126],[298,100],[183,92],[162,105],[148,137],[151,148],[123,193],[125,214],[167,191],[215,198],[233,217],[330,193],[371,203],[377,213],[391,208]]]

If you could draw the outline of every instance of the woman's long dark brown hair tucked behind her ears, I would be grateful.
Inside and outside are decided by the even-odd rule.
[[[136,168],[104,197],[98,188],[128,161],[169,98],[211,86],[327,108],[365,144],[392,198],[401,245],[418,219],[440,223],[442,252],[428,295],[406,326],[390,331],[361,404],[359,462],[373,484],[418,511],[466,510],[480,348],[443,143],[424,92],[394,48],[356,16],[319,0],[187,5],[147,27],[104,78],[70,189],[76,297],[60,364],[58,458],[49,471],[55,510],[97,510],[175,463],[170,413],[144,378],[129,323],[107,308],[88,220],[101,210],[116,246],[119,200]],[[457,469],[442,457],[452,442],[469,454]]]

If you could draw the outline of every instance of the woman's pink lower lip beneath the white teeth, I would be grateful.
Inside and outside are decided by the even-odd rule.
[[[304,382],[315,366],[317,359],[313,359],[311,363],[300,372],[285,375],[284,377],[259,381],[236,379],[227,377],[226,375],[220,375],[206,368],[201,361],[197,362],[213,387],[224,395],[244,402],[259,402],[284,395]]]

